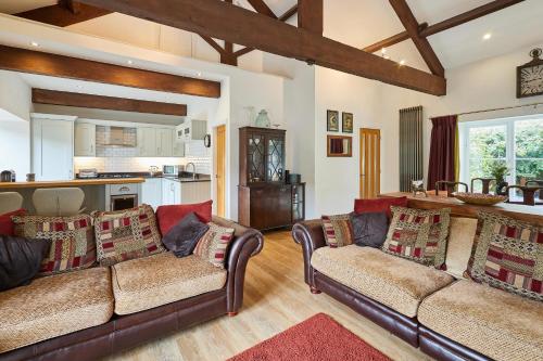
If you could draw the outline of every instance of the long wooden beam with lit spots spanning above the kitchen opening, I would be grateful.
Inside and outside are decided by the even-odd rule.
[[[178,94],[220,98],[220,82],[0,46],[0,69]]]

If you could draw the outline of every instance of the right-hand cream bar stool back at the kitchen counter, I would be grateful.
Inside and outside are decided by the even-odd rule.
[[[85,193],[80,188],[37,189],[33,194],[34,208],[38,216],[75,216],[81,209]]]

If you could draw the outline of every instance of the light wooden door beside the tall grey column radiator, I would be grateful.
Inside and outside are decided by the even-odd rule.
[[[381,184],[381,131],[361,128],[361,198],[375,198]]]

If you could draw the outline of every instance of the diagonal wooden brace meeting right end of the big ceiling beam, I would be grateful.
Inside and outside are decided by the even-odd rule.
[[[400,17],[400,21],[404,25],[405,30],[415,43],[415,47],[418,49],[418,52],[425,60],[425,63],[426,65],[428,65],[430,72],[432,72],[433,75],[438,75],[441,77],[444,76],[445,68],[438,59],[438,55],[435,55],[435,52],[430,46],[428,39],[421,37],[418,34],[418,22],[415,18],[415,15],[413,15],[413,12],[411,11],[407,2],[405,0],[389,0],[389,2],[392,5],[392,9],[394,9],[397,17]]]

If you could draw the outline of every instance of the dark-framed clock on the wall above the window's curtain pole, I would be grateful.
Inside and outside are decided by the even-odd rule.
[[[532,61],[517,67],[517,98],[543,94],[543,59],[540,48],[530,51]]]

